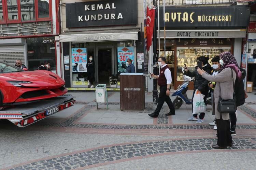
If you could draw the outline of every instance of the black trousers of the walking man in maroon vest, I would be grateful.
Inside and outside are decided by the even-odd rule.
[[[158,104],[155,110],[155,113],[159,115],[160,110],[163,106],[163,103],[166,102],[169,106],[170,112],[175,113],[175,109],[173,107],[172,101],[169,96],[166,95],[167,86],[160,86],[160,94],[158,97]]]

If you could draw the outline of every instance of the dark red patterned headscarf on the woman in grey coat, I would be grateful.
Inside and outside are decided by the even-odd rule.
[[[219,54],[219,57],[221,57],[221,59],[224,62],[221,69],[219,69],[219,72],[221,72],[225,68],[230,67],[236,72],[238,78],[241,79],[242,74],[241,74],[241,71],[240,71],[239,66],[237,64],[236,58],[230,52],[227,52],[227,51]]]

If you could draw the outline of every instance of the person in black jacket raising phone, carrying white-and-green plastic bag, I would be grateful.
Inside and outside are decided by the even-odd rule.
[[[209,74],[211,73],[212,71],[212,67],[211,65],[208,63],[208,60],[209,60],[209,57],[205,57],[205,56],[200,56],[200,57],[197,57],[197,61],[200,61],[202,62],[202,68],[204,71],[208,72]],[[189,77],[195,77],[195,82],[194,82],[194,92],[193,92],[193,97],[192,97],[192,103],[193,103],[193,98],[194,98],[194,95],[195,95],[195,91],[196,90],[199,90],[201,92],[201,94],[204,95],[204,103],[205,103],[205,100],[208,96],[208,92],[209,92],[209,87],[208,87],[208,83],[209,81],[208,80],[205,80],[204,78],[202,78],[202,76],[200,74],[198,74],[197,72],[197,67],[196,66],[196,69],[195,71],[193,72],[190,72],[188,69],[185,68],[185,75],[188,75]],[[193,104],[192,104],[192,109],[193,109]],[[199,115],[199,119],[197,117],[197,114],[194,114],[192,117],[190,117],[188,120],[189,121],[193,121],[193,120],[197,120],[196,123],[202,123],[204,122],[204,115],[205,113],[200,113]]]

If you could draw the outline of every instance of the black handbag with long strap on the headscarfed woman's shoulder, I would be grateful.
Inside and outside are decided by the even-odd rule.
[[[233,90],[234,90],[234,78],[233,78],[233,70],[232,69],[231,69],[231,73],[232,73]],[[235,113],[237,111],[235,90],[233,92],[233,99],[224,100],[221,98],[221,86],[219,86],[218,111],[220,113]]]

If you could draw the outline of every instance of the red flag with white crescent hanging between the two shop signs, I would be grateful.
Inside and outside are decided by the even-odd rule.
[[[147,7],[147,18],[146,18],[146,26],[147,26],[147,51],[150,49],[153,38],[154,31],[154,22],[155,22],[155,9],[149,9]]]

